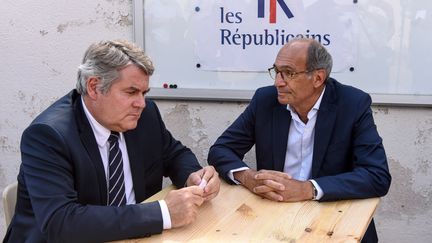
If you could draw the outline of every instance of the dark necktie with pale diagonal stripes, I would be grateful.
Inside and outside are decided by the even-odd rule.
[[[126,204],[123,158],[119,148],[119,133],[111,132],[109,141],[109,192],[108,205],[121,206]]]

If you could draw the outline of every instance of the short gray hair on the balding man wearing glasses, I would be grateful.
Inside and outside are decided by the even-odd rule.
[[[306,70],[324,69],[327,79],[332,66],[333,59],[327,49],[318,41],[312,40],[307,51]]]

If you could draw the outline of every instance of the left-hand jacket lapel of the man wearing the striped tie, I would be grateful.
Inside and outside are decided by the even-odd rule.
[[[74,103],[74,108],[81,142],[83,143],[87,155],[90,157],[91,163],[96,171],[97,179],[99,182],[101,205],[106,205],[108,194],[105,170],[103,168],[103,163],[100,157],[98,145],[96,143],[96,138],[94,137],[93,130],[91,129],[90,123],[87,120],[84,109],[82,107],[81,96],[76,99]]]

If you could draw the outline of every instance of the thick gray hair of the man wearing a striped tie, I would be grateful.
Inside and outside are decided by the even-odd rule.
[[[94,76],[101,80],[98,89],[106,93],[120,77],[119,70],[131,64],[141,68],[149,76],[154,72],[150,58],[131,42],[116,40],[94,43],[89,46],[78,67],[76,89],[81,95],[87,95],[87,79]]]

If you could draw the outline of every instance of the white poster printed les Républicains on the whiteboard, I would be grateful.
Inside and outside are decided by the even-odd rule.
[[[295,37],[321,42],[333,56],[333,72],[355,66],[353,1],[202,0],[192,12],[190,34],[202,70],[265,71]]]

